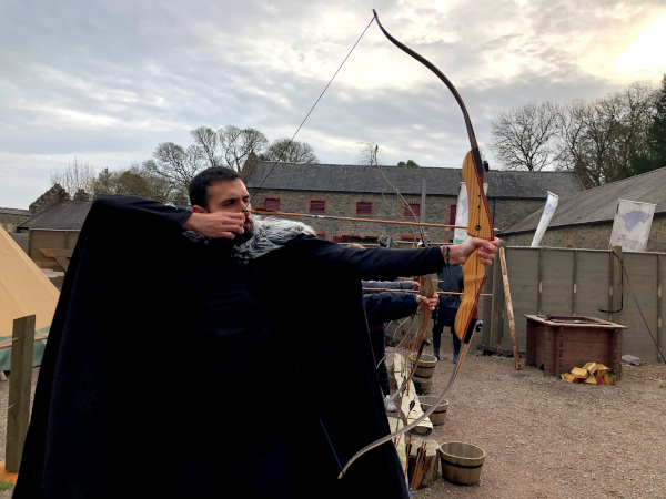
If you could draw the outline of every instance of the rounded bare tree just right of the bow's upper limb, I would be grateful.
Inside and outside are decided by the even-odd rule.
[[[507,170],[541,171],[558,160],[557,105],[529,102],[492,121],[491,150]]]

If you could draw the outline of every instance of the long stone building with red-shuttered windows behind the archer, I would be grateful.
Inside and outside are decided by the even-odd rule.
[[[461,169],[293,164],[261,162],[245,164],[243,181],[253,196],[254,208],[300,213],[320,237],[335,242],[376,243],[382,234],[412,241],[406,225],[387,225],[325,216],[418,221],[453,225]],[[501,231],[542,206],[547,191],[569,195],[583,187],[573,173],[491,171],[485,174],[487,198],[496,228]],[[411,206],[397,198],[398,191]],[[425,193],[425,204],[423,204]],[[500,232],[501,233],[501,232]],[[427,228],[433,243],[453,241],[453,230]]]

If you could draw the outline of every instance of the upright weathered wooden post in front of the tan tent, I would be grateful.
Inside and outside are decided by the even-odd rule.
[[[30,386],[32,350],[34,349],[34,315],[13,322],[9,408],[7,410],[7,447],[4,469],[18,472],[30,420]]]

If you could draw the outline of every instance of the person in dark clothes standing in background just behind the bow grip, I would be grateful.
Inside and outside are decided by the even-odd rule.
[[[451,265],[442,268],[437,273],[437,287],[443,292],[462,293],[464,288],[463,266]],[[453,361],[457,363],[461,353],[461,340],[454,330],[455,316],[461,306],[461,295],[441,294],[437,303],[437,309],[433,314],[433,355],[440,360],[440,346],[442,343],[442,332],[448,327],[453,336]]]

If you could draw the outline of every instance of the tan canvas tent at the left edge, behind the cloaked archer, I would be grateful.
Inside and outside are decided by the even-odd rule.
[[[13,320],[36,315],[37,334],[48,333],[60,293],[11,236],[0,227],[0,342],[11,339]],[[44,340],[34,344],[41,364]],[[11,348],[0,350],[0,370],[9,370]]]

